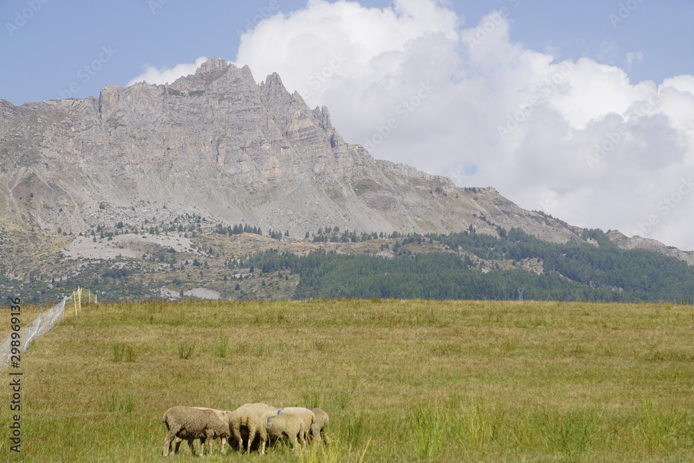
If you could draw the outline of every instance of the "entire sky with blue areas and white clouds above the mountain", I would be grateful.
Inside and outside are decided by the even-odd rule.
[[[375,158],[694,249],[691,1],[4,0],[0,24],[15,105],[219,56]]]

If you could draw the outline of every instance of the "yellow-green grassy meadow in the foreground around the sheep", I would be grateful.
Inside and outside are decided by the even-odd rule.
[[[22,356],[19,455],[3,373],[0,455],[164,461],[167,408],[265,401],[323,408],[331,446],[210,461],[691,462],[693,339],[691,305],[87,305]]]

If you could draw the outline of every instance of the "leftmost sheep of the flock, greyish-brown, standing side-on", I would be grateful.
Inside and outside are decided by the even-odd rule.
[[[231,437],[229,424],[223,416],[230,412],[212,410],[202,407],[171,407],[164,413],[162,421],[167,426],[167,437],[164,439],[164,457],[171,451],[171,441],[174,437],[187,440],[190,451],[195,455],[193,441],[200,439],[200,453],[203,454],[205,440],[208,440],[209,453],[212,453],[212,441],[221,437],[221,453],[224,453],[226,440]],[[176,444],[176,451],[178,451]]]

